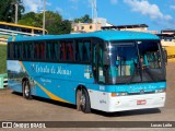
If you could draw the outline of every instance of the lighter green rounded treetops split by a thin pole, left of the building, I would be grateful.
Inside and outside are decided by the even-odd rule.
[[[49,34],[69,34],[71,32],[71,23],[63,21],[58,12],[46,11],[46,29]],[[28,12],[23,14],[19,21],[20,24],[43,27],[43,13]]]

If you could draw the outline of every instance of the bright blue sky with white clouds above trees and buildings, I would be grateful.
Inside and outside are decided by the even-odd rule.
[[[92,0],[46,0],[46,10],[65,20],[92,16]],[[97,16],[113,25],[147,24],[151,31],[175,29],[175,0],[96,0]],[[43,0],[23,0],[25,13],[42,12]]]

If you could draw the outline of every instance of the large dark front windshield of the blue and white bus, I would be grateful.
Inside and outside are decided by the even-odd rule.
[[[138,83],[165,80],[165,67],[158,40],[108,43],[107,82]]]

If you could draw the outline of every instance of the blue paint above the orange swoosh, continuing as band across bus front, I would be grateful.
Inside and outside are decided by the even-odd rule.
[[[101,92],[127,92],[137,93],[141,90],[152,92],[166,87],[166,82],[159,83],[137,83],[126,85],[97,85],[94,79],[84,78],[85,71],[91,71],[91,66],[44,63],[44,62],[23,62],[30,75],[42,86],[69,102],[75,96],[75,88],[79,84],[94,91]],[[78,73],[79,71],[79,73]],[[102,90],[103,88],[103,90]],[[38,93],[37,93],[38,94]],[[69,94],[69,95],[68,95]],[[71,102],[72,103],[72,102]]]

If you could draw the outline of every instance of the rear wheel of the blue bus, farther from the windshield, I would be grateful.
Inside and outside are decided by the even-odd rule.
[[[31,98],[31,86],[28,81],[23,82],[23,96],[26,99]]]

